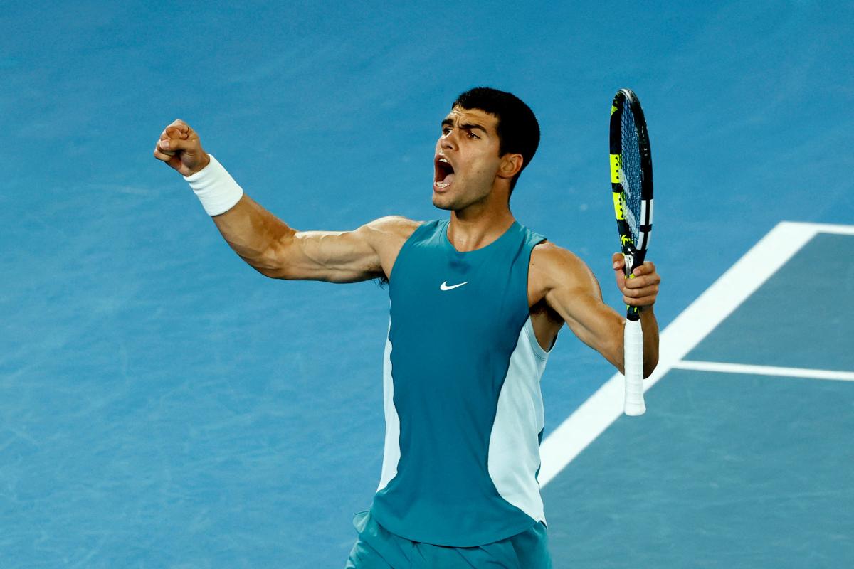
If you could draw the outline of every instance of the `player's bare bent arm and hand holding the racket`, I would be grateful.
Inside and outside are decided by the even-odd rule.
[[[583,261],[562,247],[547,242],[536,247],[531,258],[532,276],[547,305],[556,311],[579,340],[599,351],[620,373],[623,369],[623,326],[625,317],[602,301],[599,282]],[[658,295],[660,277],[652,263],[623,276],[623,255],[613,258],[617,287],[626,304],[640,306],[644,335],[644,377],[658,363],[658,322],[652,304]],[[538,294],[538,296],[539,296]]]

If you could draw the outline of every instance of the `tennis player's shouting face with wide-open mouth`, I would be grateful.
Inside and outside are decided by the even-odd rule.
[[[489,195],[501,164],[498,119],[479,109],[453,107],[436,141],[433,205],[460,210]]]

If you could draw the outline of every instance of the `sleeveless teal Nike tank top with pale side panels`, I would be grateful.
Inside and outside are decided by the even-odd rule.
[[[542,521],[540,378],[528,307],[531,250],[514,222],[460,253],[449,220],[418,227],[389,277],[383,473],[371,504],[412,541],[475,547]]]

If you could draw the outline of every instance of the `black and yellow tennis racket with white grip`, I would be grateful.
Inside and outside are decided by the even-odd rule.
[[[611,194],[626,276],[643,264],[652,231],[652,153],[640,101],[621,89],[611,103]],[[643,415],[643,332],[636,306],[626,306],[623,339],[626,397],[623,412]]]

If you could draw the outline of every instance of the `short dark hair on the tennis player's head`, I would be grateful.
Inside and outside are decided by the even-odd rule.
[[[522,170],[534,158],[540,145],[540,124],[534,111],[518,96],[490,87],[475,87],[457,97],[451,108],[462,107],[468,110],[480,109],[498,119],[498,155],[522,154]],[[522,170],[510,181],[510,193],[516,187],[516,181]]]

